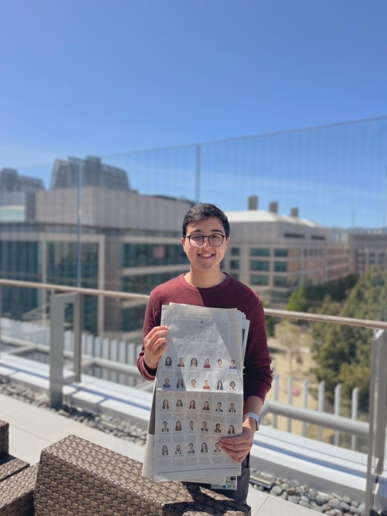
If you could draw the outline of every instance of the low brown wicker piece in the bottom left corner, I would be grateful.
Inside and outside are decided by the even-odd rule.
[[[38,464],[0,483],[0,516],[32,516]]]

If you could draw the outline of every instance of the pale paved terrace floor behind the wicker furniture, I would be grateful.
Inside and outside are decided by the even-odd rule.
[[[90,428],[71,418],[29,405],[0,394],[0,419],[9,423],[9,453],[35,464],[40,451],[60,439],[75,434],[93,443],[143,462],[144,447]],[[247,503],[251,516],[312,516],[315,511],[286,502],[250,487]]]

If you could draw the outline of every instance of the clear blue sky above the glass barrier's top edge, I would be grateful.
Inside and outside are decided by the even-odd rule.
[[[385,0],[4,3],[0,168],[386,115],[386,19]]]

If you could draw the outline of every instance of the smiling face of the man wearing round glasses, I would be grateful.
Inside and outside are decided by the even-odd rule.
[[[225,234],[223,224],[217,217],[192,222],[187,226],[187,236],[194,234],[208,236],[213,233]],[[191,268],[199,273],[219,270],[220,262],[223,260],[229,240],[229,238],[224,238],[220,246],[213,247],[209,244],[208,238],[205,238],[201,247],[193,247],[190,245],[188,238],[182,238],[183,249],[191,264]]]

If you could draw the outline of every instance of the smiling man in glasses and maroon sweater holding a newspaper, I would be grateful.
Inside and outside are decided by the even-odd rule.
[[[249,287],[220,270],[220,263],[230,243],[229,236],[227,217],[213,204],[198,204],[185,215],[181,242],[190,268],[187,273],[159,285],[151,292],[137,366],[145,379],[154,380],[157,364],[168,348],[169,329],[160,326],[163,304],[174,302],[201,307],[237,308],[246,314],[250,321],[244,363],[246,417],[239,436],[222,437],[220,440],[222,450],[242,464],[237,490],[220,492],[244,502],[249,487],[249,452],[254,432],[259,426],[259,414],[271,385],[271,361],[261,299]]]

